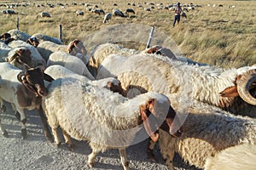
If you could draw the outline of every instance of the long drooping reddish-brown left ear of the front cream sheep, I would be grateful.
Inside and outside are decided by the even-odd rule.
[[[146,107],[145,106],[140,106],[140,114],[141,114],[141,118],[143,120],[143,125],[145,127],[146,132],[148,133],[148,135],[150,136],[150,138],[156,142],[159,139],[159,133],[154,133],[153,130],[150,127],[150,122],[148,119],[147,115],[147,111],[146,111]]]

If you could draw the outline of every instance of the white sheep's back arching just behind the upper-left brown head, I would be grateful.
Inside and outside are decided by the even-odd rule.
[[[21,40],[16,40],[9,42],[9,47],[11,48],[27,48],[30,51],[30,56],[32,59],[30,67],[36,67],[38,65],[43,65],[45,67],[46,62],[41,54],[39,54],[38,49],[34,46],[30,45],[29,43],[23,42]]]

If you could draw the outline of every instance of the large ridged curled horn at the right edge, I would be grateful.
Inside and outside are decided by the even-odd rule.
[[[250,87],[256,82],[256,69],[245,72],[240,79],[237,80],[237,92],[241,99],[248,104],[256,105],[256,98],[249,93]]]

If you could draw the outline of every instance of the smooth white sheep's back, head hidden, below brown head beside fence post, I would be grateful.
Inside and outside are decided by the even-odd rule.
[[[79,75],[88,77],[90,80],[95,79],[81,59],[65,52],[54,52],[53,54],[50,54],[47,61],[47,67],[49,65],[62,65]]]

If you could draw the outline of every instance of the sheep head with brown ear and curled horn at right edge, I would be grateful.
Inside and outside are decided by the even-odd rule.
[[[219,94],[222,97],[240,96],[248,104],[256,105],[256,69],[236,77],[236,86],[225,88]]]

